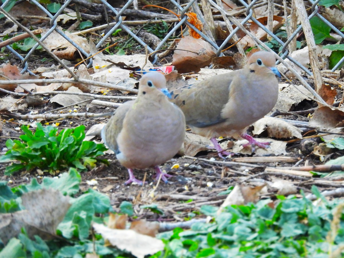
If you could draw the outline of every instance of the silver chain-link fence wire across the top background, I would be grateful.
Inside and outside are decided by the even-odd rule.
[[[84,56],[88,57],[90,56],[90,54],[86,53],[85,50],[82,49],[82,47],[80,47],[78,44],[76,44],[70,37],[68,37],[68,35],[66,35],[66,33],[59,29],[57,26],[57,17],[58,15],[66,12],[66,8],[68,8],[68,6],[70,6],[71,4],[80,4],[83,7],[89,7],[89,8],[94,8],[94,4],[91,4],[89,2],[86,2],[84,0],[66,0],[63,5],[61,6],[61,8],[53,15],[51,12],[49,12],[46,7],[44,5],[42,5],[39,1],[36,0],[29,0],[30,3],[35,4],[36,7],[38,7],[39,9],[41,9],[44,13],[46,13],[47,17],[50,19],[50,26],[51,28],[49,29],[49,31],[44,34],[44,36],[41,37],[40,41],[44,44],[44,40],[53,32],[56,31],[58,34],[60,34],[61,36],[63,36],[68,42],[70,42],[73,46],[76,47],[76,49],[82,53]],[[220,13],[223,13],[223,7],[219,6],[217,3],[220,3],[220,1],[212,1],[212,0],[203,0],[202,2],[207,1],[214,10],[220,11]],[[272,1],[273,0],[268,0],[268,1]],[[267,5],[268,1],[262,1],[262,0],[252,0],[251,3],[246,3],[243,0],[237,0],[238,4],[241,4],[245,10],[245,14],[246,14],[246,18],[239,21],[236,18],[232,17],[229,14],[226,14],[226,16],[228,18],[230,18],[230,20],[236,21],[234,23],[240,23],[241,25],[246,24],[248,21],[252,21],[254,22],[256,25],[259,26],[259,28],[261,28],[262,30],[264,30],[272,39],[276,40],[280,46],[280,53],[279,55],[282,58],[288,58],[291,62],[293,62],[295,65],[299,66],[305,73],[307,73],[308,75],[312,75],[312,73],[309,71],[309,69],[307,67],[304,67],[303,65],[301,65],[299,62],[297,62],[296,60],[294,60],[290,53],[289,53],[289,49],[288,46],[291,44],[291,42],[295,39],[295,37],[297,37],[297,35],[302,31],[302,26],[299,25],[297,27],[297,29],[292,32],[292,34],[288,37],[288,39],[283,42],[278,36],[276,36],[275,34],[273,34],[272,31],[269,31],[267,29],[267,27],[265,25],[263,25],[261,22],[259,22],[259,20],[257,20],[254,17],[254,12],[252,11],[252,8],[254,8],[255,6],[261,6],[262,4]],[[166,1],[165,1],[166,2]],[[110,25],[112,26],[110,30],[108,30],[106,32],[106,34],[99,40],[99,42],[96,44],[96,49],[101,49],[104,48],[104,45],[106,43],[106,40],[111,37],[111,34],[114,33],[117,29],[121,29],[122,31],[128,33],[129,36],[131,36],[133,38],[133,40],[135,40],[137,43],[139,43],[140,45],[144,47],[147,46],[148,52],[149,53],[153,53],[156,52],[158,50],[161,50],[162,47],[165,45],[166,41],[168,41],[171,36],[180,29],[181,25],[187,24],[190,28],[192,28],[193,30],[195,30],[198,34],[200,34],[203,39],[205,41],[207,41],[209,44],[211,44],[215,49],[216,49],[216,55],[217,56],[221,56],[222,53],[221,51],[225,48],[226,44],[232,39],[233,35],[235,33],[238,32],[238,30],[240,29],[239,26],[236,26],[236,28],[227,36],[227,38],[223,41],[223,43],[218,46],[215,42],[215,40],[213,39],[213,37],[209,34],[205,34],[204,32],[198,30],[193,24],[191,24],[190,22],[187,21],[188,17],[185,15],[186,12],[189,12],[190,10],[193,10],[197,13],[197,8],[198,8],[198,4],[201,1],[196,1],[196,0],[190,0],[189,2],[185,3],[185,4],[180,4],[179,1],[174,1],[174,0],[168,0],[168,2],[170,4],[172,4],[175,9],[173,11],[175,11],[176,13],[180,14],[180,21],[176,22],[173,26],[173,28],[171,28],[169,30],[169,32],[164,36],[164,38],[161,40],[161,42],[155,46],[155,49],[152,49],[147,42],[145,42],[143,39],[141,39],[138,35],[136,35],[133,31],[132,28],[130,28],[128,25],[126,25],[125,22],[123,22],[123,16],[126,15],[126,12],[128,12],[129,10],[133,10],[134,4],[135,4],[135,0],[128,0],[126,1],[126,3],[124,4],[124,6],[122,8],[115,8],[113,6],[111,6],[107,1],[105,0],[97,0],[97,5],[101,6],[103,5],[103,9],[104,7],[107,9],[108,12],[114,14],[116,16],[115,18],[115,22],[110,23]],[[331,24],[329,21],[327,21],[322,14],[319,12],[319,2],[320,0],[317,1],[312,1],[312,0],[308,0],[305,1],[305,4],[308,4],[311,6],[311,14],[309,15],[308,19],[311,19],[313,17],[318,17],[319,19],[321,19],[323,22],[325,22],[328,26],[330,26],[330,28],[336,33],[338,34],[341,39],[344,39],[344,34],[338,30],[333,24]],[[6,19],[9,18],[6,15],[6,11],[4,11],[4,9],[6,9],[7,7],[9,7],[11,4],[13,4],[13,0],[6,0],[0,9],[0,13],[4,13],[5,14],[5,18],[2,19]],[[283,8],[283,5],[279,5],[279,8]],[[89,9],[89,11],[92,11],[92,9]],[[105,12],[105,11],[104,11]],[[166,18],[167,15],[165,15]],[[161,18],[161,14],[157,13],[157,17],[155,19],[159,19]],[[171,16],[169,16],[171,17]],[[201,19],[201,21],[203,22],[204,26],[207,26],[207,24],[205,23],[202,15],[198,16],[199,19]],[[10,18],[11,19],[11,18]],[[13,22],[17,22],[13,19],[11,19]],[[39,43],[36,43],[32,49],[25,54],[24,56],[20,53],[18,53],[16,50],[14,50],[11,46],[6,46],[6,49],[8,51],[10,51],[14,56],[16,56],[17,58],[19,58],[22,62],[22,71],[21,73],[27,72],[29,71],[31,73],[31,71],[29,70],[29,65],[28,62],[30,60],[32,60],[33,58],[33,53],[34,51],[37,49],[37,47],[39,46]],[[152,55],[153,57],[153,64],[159,64],[158,63],[158,55],[156,53],[154,53]],[[89,65],[92,64],[92,58],[90,58],[88,60]],[[341,60],[332,68],[332,71],[337,70],[340,65],[344,62],[344,57],[341,58]]]

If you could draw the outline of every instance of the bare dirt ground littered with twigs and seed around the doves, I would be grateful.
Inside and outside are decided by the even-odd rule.
[[[56,104],[46,103],[43,106],[35,107],[35,110],[47,111],[58,107]],[[103,109],[103,110],[102,110]],[[68,112],[68,108],[62,109],[62,112]],[[95,106],[83,106],[78,109],[78,112],[85,111],[97,111],[97,112],[108,112],[109,110],[104,110],[104,108],[99,108]],[[24,114],[29,110],[22,110]],[[56,111],[57,112],[57,111]],[[60,112],[60,111],[58,111]],[[299,118],[300,119],[300,118]],[[305,119],[305,117],[303,117]],[[85,125],[86,130],[96,123],[104,123],[107,118],[95,118],[81,120],[78,118],[67,118],[60,121],[59,128]],[[70,122],[73,122],[70,125]],[[0,154],[4,154],[6,151],[6,137],[19,137],[17,121],[6,122],[3,124],[2,137],[0,141]],[[99,139],[100,140],[100,139]],[[225,139],[226,140],[226,139]],[[316,140],[315,140],[316,141]],[[318,140],[319,141],[319,140]],[[315,155],[306,155],[299,151],[300,142],[296,141],[289,143],[287,145],[288,154],[285,156],[299,158],[302,160],[298,165],[301,166],[305,163],[312,165],[318,164],[319,158]],[[335,152],[331,154],[331,159],[343,155],[343,152]],[[235,155],[233,158],[245,157],[245,155]],[[248,155],[246,155],[248,157]],[[103,157],[101,157],[103,158]],[[110,197],[111,205],[115,211],[119,211],[119,204],[122,201],[129,201],[134,204],[137,215],[139,217],[145,217],[148,219],[163,219],[163,220],[179,220],[183,217],[187,217],[192,211],[197,211],[202,205],[216,205],[222,204],[226,195],[218,195],[219,193],[226,191],[229,186],[234,186],[236,184],[248,184],[251,186],[261,185],[262,183],[268,183],[273,180],[273,178],[279,178],[288,180],[297,187],[297,192],[301,189],[304,192],[310,193],[310,188],[313,184],[316,184],[320,191],[334,190],[339,187],[339,184],[335,182],[317,184],[312,178],[306,178],[299,180],[298,176],[287,175],[287,174],[269,174],[260,175],[255,177],[256,174],[264,172],[266,167],[269,168],[280,168],[281,166],[292,166],[296,162],[270,162],[270,163],[254,163],[256,166],[247,166],[245,164],[223,164],[221,158],[217,157],[216,153],[213,151],[203,151],[198,153],[197,157],[194,159],[183,158],[176,156],[169,162],[162,164],[161,168],[173,175],[167,184],[163,182],[154,182],[151,178],[154,171],[152,169],[147,169],[144,171],[135,171],[135,175],[138,179],[143,180],[145,173],[146,181],[148,182],[144,186],[140,185],[124,185],[124,182],[128,179],[127,169],[119,164],[116,160],[115,154],[107,154],[104,158],[109,160],[110,165],[99,164],[92,171],[84,172],[82,174],[82,183],[80,184],[80,189],[86,191],[89,187],[94,187],[94,189],[99,190],[107,194]],[[212,158],[209,160],[209,158]],[[330,157],[329,157],[330,158]],[[208,160],[208,161],[207,161]],[[227,159],[226,162],[230,162],[232,159]],[[218,163],[217,163],[218,162]],[[179,164],[179,168],[172,168],[173,165]],[[15,174],[10,177],[4,176],[4,168],[6,164],[0,164],[0,180],[10,181],[10,186],[15,186],[23,183],[29,183],[32,178],[37,177],[39,182],[42,177],[38,175],[37,171],[31,171],[31,173],[23,172],[22,174]],[[61,171],[62,172],[62,171]],[[252,176],[252,179],[247,179],[247,175]],[[46,175],[51,176],[51,175]],[[89,185],[87,181],[95,179],[97,181],[96,185]],[[261,198],[275,198],[275,194],[278,189],[270,187],[268,185],[268,191],[261,196]],[[162,209],[164,215],[157,217],[150,211],[142,214],[142,209],[138,207],[140,205],[158,204],[158,207]]]

